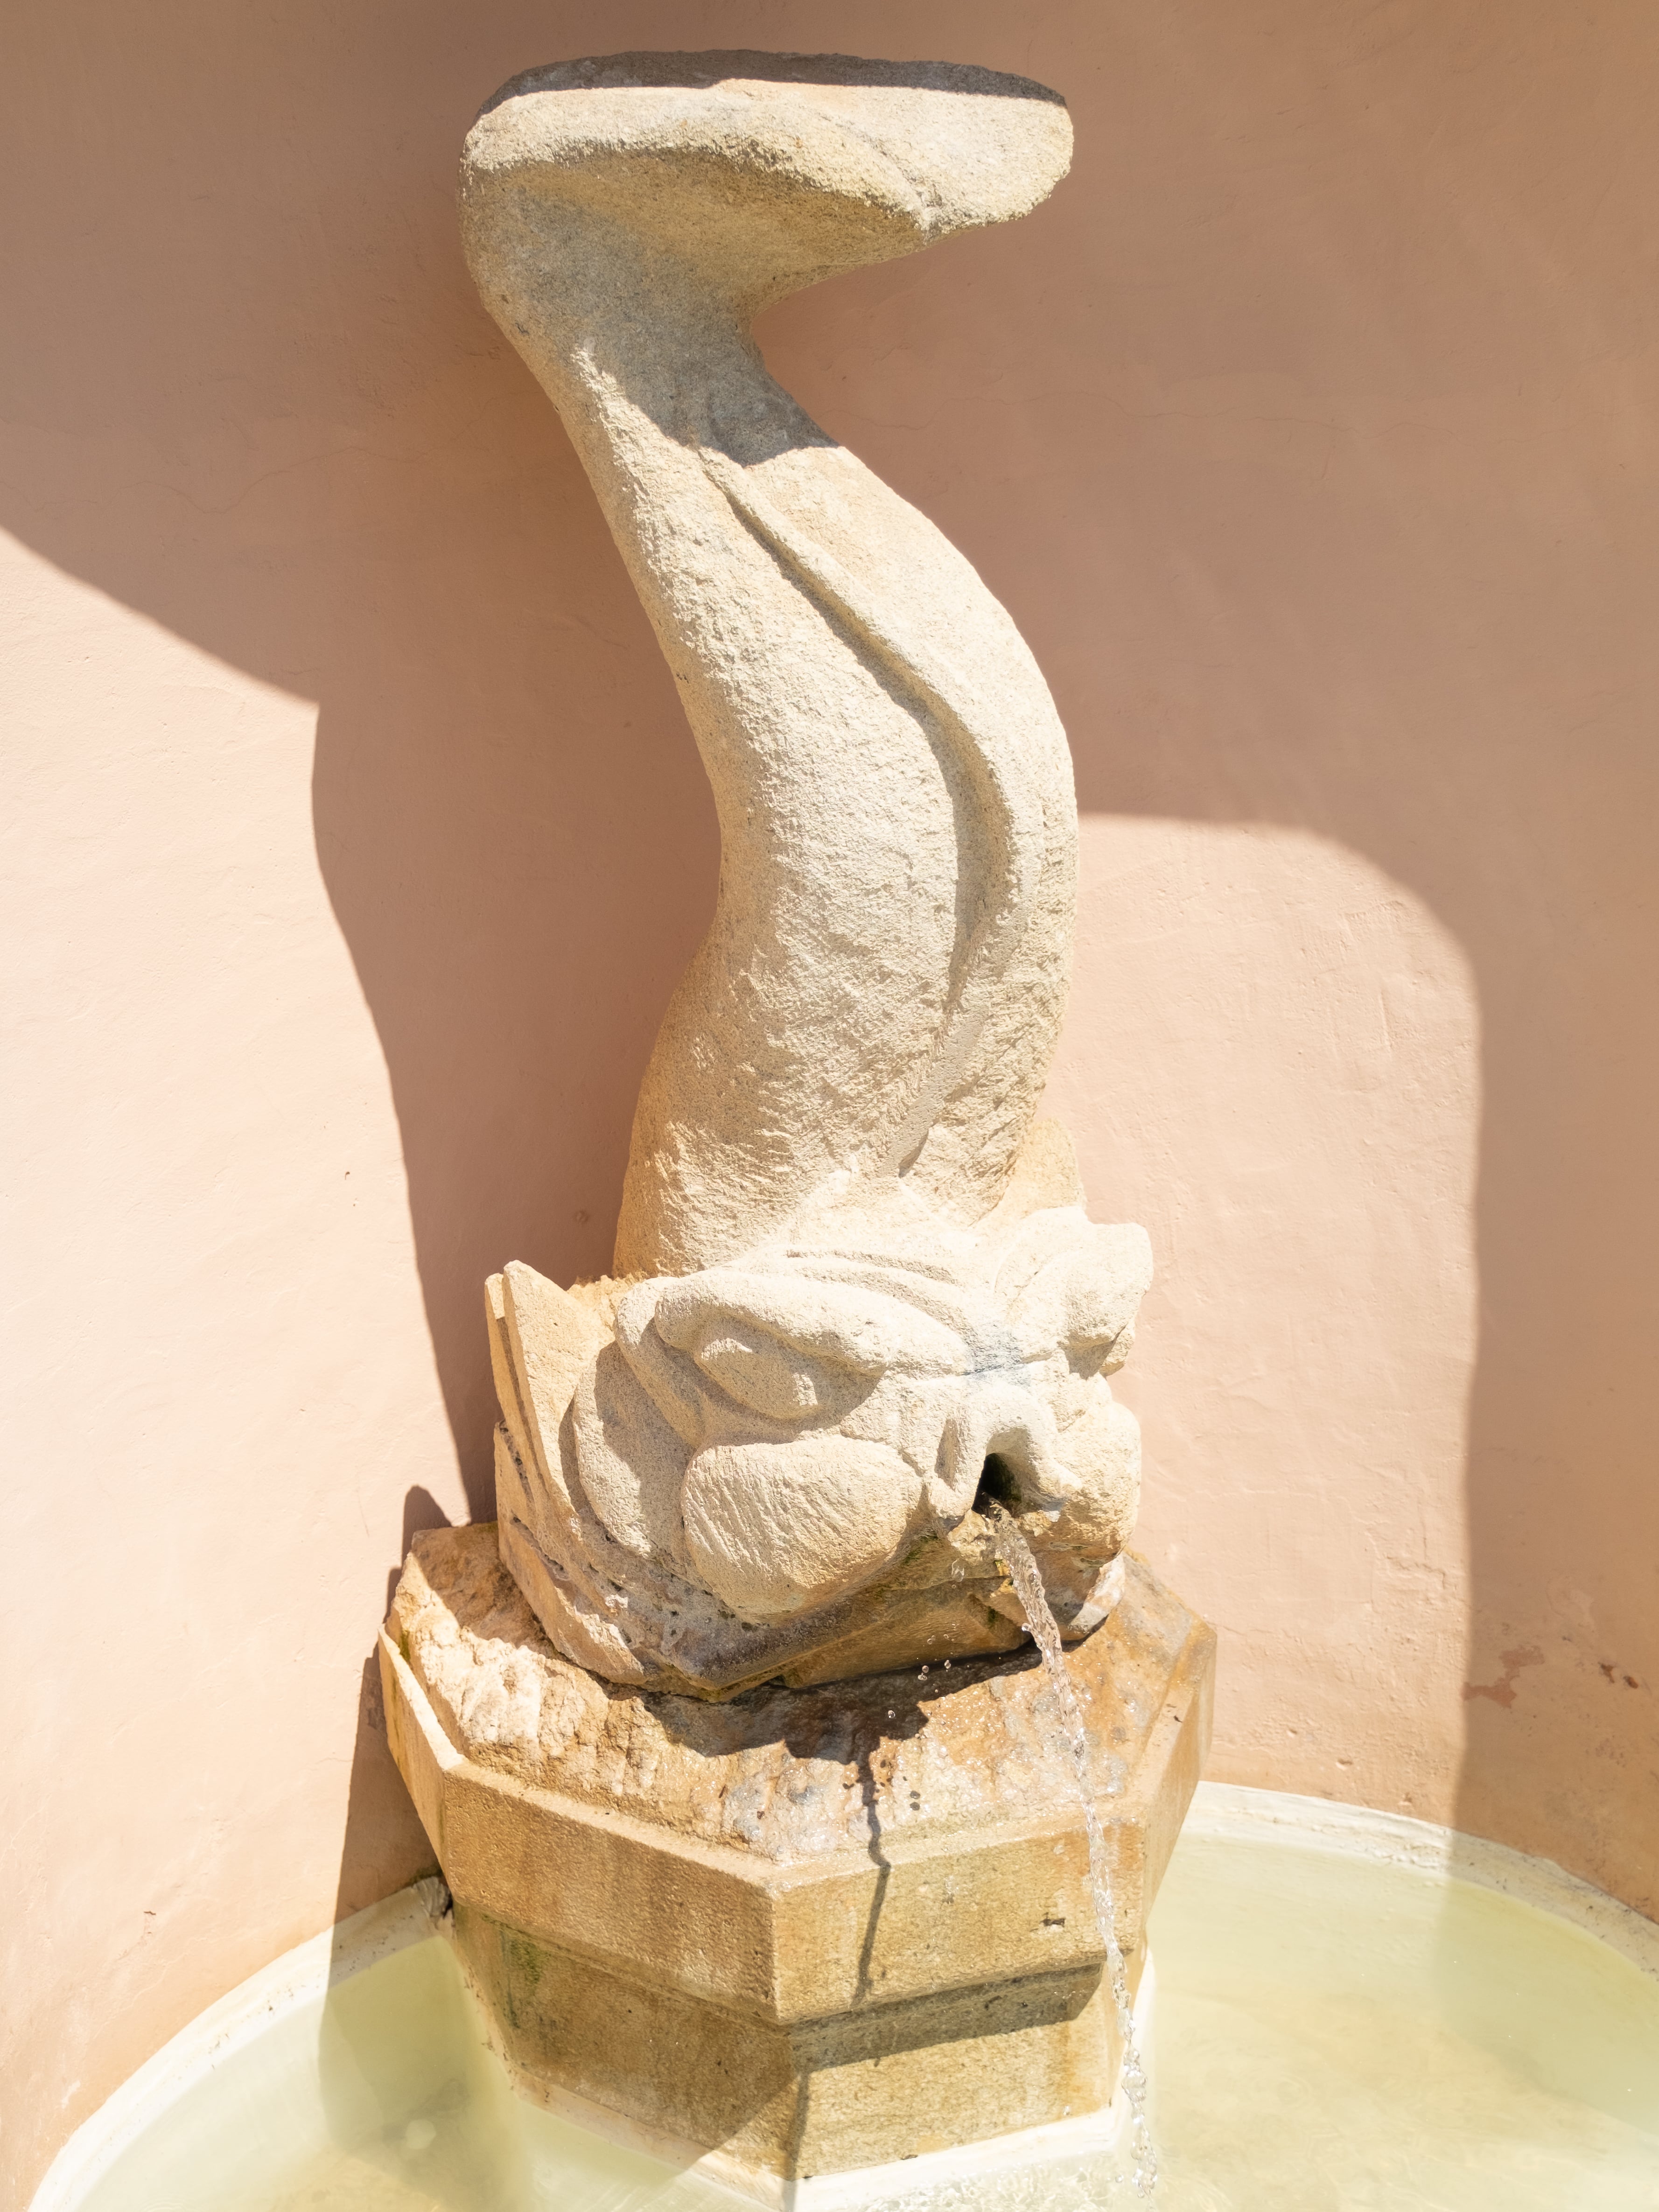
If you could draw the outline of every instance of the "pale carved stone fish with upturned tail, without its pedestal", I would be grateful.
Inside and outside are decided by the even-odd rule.
[[[790,290],[1024,215],[1068,155],[1020,77],[757,53],[531,71],[467,139],[471,270],[586,465],[721,825],[617,1279],[489,1285],[502,1553],[617,1681],[1002,1644],[964,1588],[998,1579],[967,1526],[987,1462],[1077,1632],[1135,1520],[1106,1374],[1146,1237],[1095,1228],[1033,1128],[1066,739],[962,555],[748,334]]]

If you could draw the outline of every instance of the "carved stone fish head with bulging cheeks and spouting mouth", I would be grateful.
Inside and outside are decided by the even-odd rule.
[[[1110,1559],[1139,1433],[1106,1376],[1150,1281],[1139,1228],[1042,1208],[984,1232],[914,1208],[883,1245],[834,1192],[741,1261],[617,1303],[575,1398],[575,1462],[613,1537],[739,1617],[823,1604],[973,1506],[987,1462],[1048,1542]]]

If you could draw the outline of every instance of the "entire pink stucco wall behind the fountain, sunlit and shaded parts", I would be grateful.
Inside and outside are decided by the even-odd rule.
[[[1161,1279],[1214,1772],[1659,1911],[1659,13],[58,0],[9,33],[0,2172],[425,1858],[365,1692],[604,1263],[714,841],[453,161],[626,44],[1060,86],[1006,232],[772,314],[1073,737],[1053,1102]]]

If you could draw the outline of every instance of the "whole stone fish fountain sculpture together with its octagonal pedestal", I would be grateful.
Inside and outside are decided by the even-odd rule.
[[[1086,1907],[1051,1916],[1071,1942],[1013,1933],[1053,1905],[1077,1836],[987,1495],[1117,1712],[1119,1834],[1141,1869],[1119,1902],[1128,1953],[1208,1728],[1208,1630],[1124,1555],[1139,1438],[1106,1378],[1148,1241],[1088,1221],[1068,1139],[1035,1119],[1073,936],[1066,739],[973,568],[750,336],[807,283],[1024,215],[1068,157],[1064,104],[1018,77],[646,53],[511,80],[462,164],[473,276],[560,409],[668,657],[721,883],[639,1095],[615,1276],[566,1290],[513,1263],[489,1283],[500,1520],[427,1537],[405,1573],[394,1745],[498,2024],[535,2013],[531,1984],[557,1984],[555,2011],[577,1989],[615,2011],[595,1975],[644,2008],[633,2057],[606,2062],[546,2020],[502,2026],[520,2077],[743,2172],[907,2157],[905,2112],[925,2095],[938,2119],[947,2079],[945,2139],[1110,2099]],[[967,1728],[951,1752],[925,1719],[945,1661]],[[920,1677],[896,1688],[898,1668]],[[1009,1927],[947,1916],[956,1933],[898,1964],[891,1829],[902,1745],[925,1736],[949,1781],[905,1790],[918,1836],[940,1792],[953,1803],[940,1896],[1018,1889],[1033,1820],[1048,1863]],[[776,1772],[745,1825],[761,1745]],[[1004,1772],[975,1774],[975,1747]],[[644,1827],[608,1832],[602,1878],[595,1818]],[[688,1953],[714,1849],[748,1860],[726,1869],[741,1964],[714,1920]],[[794,1922],[772,1911],[781,1867]],[[730,1902],[757,1880],[765,1933],[752,1900]],[[1006,2055],[1033,2022],[1048,2057],[989,2090],[975,2035]],[[898,2106],[847,2088],[880,2064]],[[710,2088],[732,2066],[754,2075],[741,2112]]]

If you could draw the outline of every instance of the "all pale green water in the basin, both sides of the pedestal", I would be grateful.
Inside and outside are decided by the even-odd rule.
[[[1464,1882],[1183,1838],[1152,1920],[1164,2212],[1659,2212],[1659,1982]],[[887,2212],[1124,2212],[1104,2170]],[[440,1942],[279,2022],[84,2212],[730,2212],[518,2106]]]

